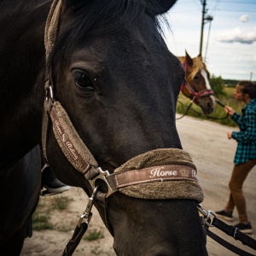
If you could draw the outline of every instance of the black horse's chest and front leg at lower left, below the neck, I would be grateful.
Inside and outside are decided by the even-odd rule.
[[[0,172],[0,255],[19,255],[26,237],[32,236],[32,213],[41,185],[39,146],[14,166]]]

